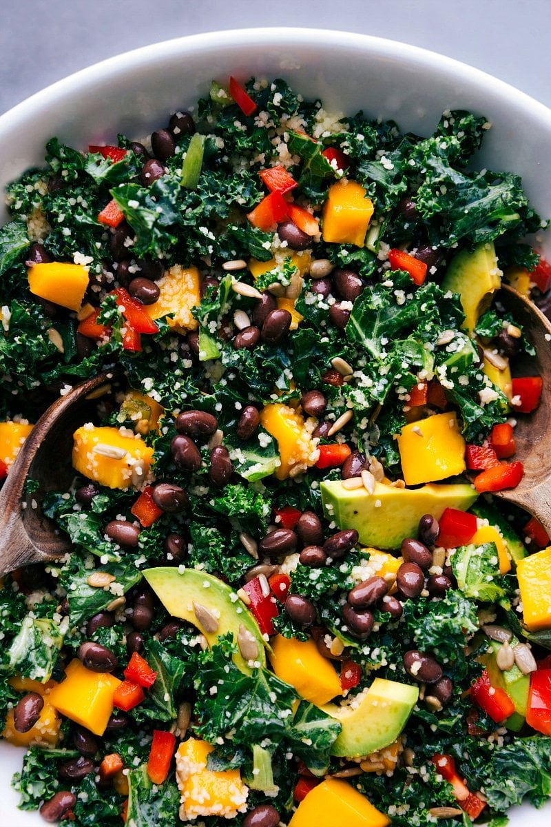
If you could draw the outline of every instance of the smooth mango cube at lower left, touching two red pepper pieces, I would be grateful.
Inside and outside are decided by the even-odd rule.
[[[92,672],[74,658],[65,669],[67,677],[54,686],[49,703],[75,724],[102,735],[113,711],[113,695],[121,681],[108,672]]]

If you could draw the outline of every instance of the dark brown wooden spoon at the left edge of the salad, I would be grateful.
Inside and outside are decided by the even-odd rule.
[[[69,538],[42,514],[40,504],[47,491],[69,488],[75,476],[74,430],[93,417],[93,400],[110,390],[112,378],[113,373],[102,373],[75,385],[50,405],[23,443],[0,491],[0,573],[69,551]],[[27,479],[38,483],[32,494],[25,493]]]

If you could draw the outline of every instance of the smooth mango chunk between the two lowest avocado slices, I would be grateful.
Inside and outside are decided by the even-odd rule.
[[[294,686],[298,694],[311,704],[323,706],[336,695],[342,695],[340,677],[323,657],[310,638],[306,641],[297,638],[283,638],[278,634],[271,641],[270,662],[273,672],[282,681]]]

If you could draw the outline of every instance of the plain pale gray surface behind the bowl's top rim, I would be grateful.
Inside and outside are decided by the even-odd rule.
[[[551,0],[5,0],[0,112],[141,45],[216,29],[311,26],[403,41],[551,106]]]

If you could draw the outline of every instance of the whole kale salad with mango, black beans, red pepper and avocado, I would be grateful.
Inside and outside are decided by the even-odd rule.
[[[108,380],[69,489],[26,480],[71,551],[0,590],[23,809],[497,827],[547,800],[551,549],[492,492],[542,390],[498,290],[545,305],[551,266],[520,179],[476,170],[489,127],[232,78],[9,185],[0,476]]]

